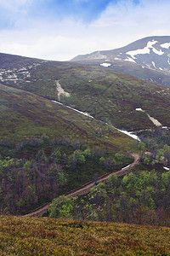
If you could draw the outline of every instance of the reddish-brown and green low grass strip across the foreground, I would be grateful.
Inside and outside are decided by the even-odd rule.
[[[1,255],[170,255],[170,229],[0,217]]]

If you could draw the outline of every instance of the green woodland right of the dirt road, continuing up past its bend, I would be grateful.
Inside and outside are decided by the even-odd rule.
[[[133,172],[124,177],[112,173],[107,183],[96,184],[88,195],[59,196],[49,217],[170,226],[168,131],[147,132],[138,147],[141,164]]]

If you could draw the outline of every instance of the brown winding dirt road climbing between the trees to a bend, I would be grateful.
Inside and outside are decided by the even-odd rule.
[[[134,160],[133,160],[133,163],[130,164],[129,166],[122,168],[118,172],[107,173],[107,174],[99,177],[97,179],[97,181],[92,181],[92,182],[86,183],[78,189],[71,190],[70,192],[66,193],[65,196],[71,198],[71,197],[78,196],[78,195],[88,194],[89,190],[94,187],[96,182],[97,183],[106,182],[108,180],[109,176],[111,175],[111,173],[115,173],[117,177],[121,177],[121,176],[127,174],[127,172],[130,172],[134,166],[137,166],[139,164],[139,154],[132,154],[132,156],[133,156]],[[51,207],[51,203],[46,203],[46,204],[42,205],[42,207],[38,207],[37,209],[24,215],[23,217],[40,217],[44,213],[48,212],[49,207]]]

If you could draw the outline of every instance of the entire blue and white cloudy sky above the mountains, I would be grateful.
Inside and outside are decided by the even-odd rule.
[[[69,61],[170,36],[169,0],[0,0],[0,52]]]

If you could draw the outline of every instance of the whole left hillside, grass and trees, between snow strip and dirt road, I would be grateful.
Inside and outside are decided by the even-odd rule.
[[[30,211],[131,161],[126,151],[137,143],[109,125],[24,90],[0,90],[1,212]]]

